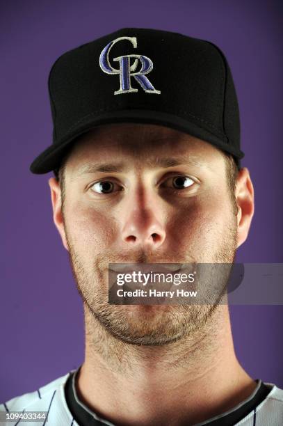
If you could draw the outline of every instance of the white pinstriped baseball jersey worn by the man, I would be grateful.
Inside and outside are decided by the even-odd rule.
[[[72,370],[71,372],[74,372]],[[70,373],[65,376],[59,377],[58,379],[51,381],[49,384],[42,386],[38,390],[31,393],[25,393],[18,397],[14,397],[12,400],[4,404],[0,404],[0,413],[10,413],[11,411],[18,411],[21,413],[29,411],[47,411],[48,418],[46,420],[40,420],[36,422],[20,422],[15,420],[14,422],[0,422],[0,425],[13,426],[13,425],[27,425],[27,426],[80,426],[74,420],[72,413],[70,413],[67,407],[65,399],[65,382],[69,377]],[[268,393],[264,401],[257,406],[256,409],[252,410],[248,416],[245,416],[236,425],[241,426],[282,426],[283,425],[283,390],[277,388],[274,384],[267,384],[271,390]],[[235,407],[236,409],[237,407]],[[233,410],[223,413],[221,418],[225,414],[232,412]],[[3,416],[3,413],[1,413]],[[112,423],[99,418],[94,413],[92,416],[99,420],[102,425],[114,426]],[[209,421],[216,420],[211,418],[200,425],[206,425]]]

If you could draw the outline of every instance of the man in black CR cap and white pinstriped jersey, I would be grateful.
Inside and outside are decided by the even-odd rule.
[[[282,425],[283,390],[238,363],[227,303],[108,302],[109,264],[231,264],[248,237],[254,193],[222,52],[122,29],[61,56],[49,93],[54,144],[31,171],[56,176],[86,356],[1,410],[47,411],[50,425]]]

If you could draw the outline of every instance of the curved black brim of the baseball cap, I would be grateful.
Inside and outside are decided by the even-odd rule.
[[[98,125],[113,123],[147,123],[163,125],[165,127],[170,127],[172,129],[179,130],[180,132],[190,134],[191,136],[195,136],[215,145],[217,148],[220,148],[225,152],[229,152],[229,154],[234,155],[238,166],[240,164],[239,160],[244,157],[244,153],[241,150],[236,150],[234,146],[229,144],[229,141],[227,141],[227,143],[223,142],[223,135],[218,136],[216,134],[212,134],[202,127],[198,127],[195,123],[184,120],[184,118],[173,116],[169,113],[163,113],[161,111],[133,109],[104,112],[100,116],[95,114],[92,118],[88,115],[88,118],[81,121],[80,125],[77,126],[72,133],[65,136],[60,143],[54,143],[43,151],[42,154],[36,157],[30,166],[31,172],[35,174],[43,174],[58,169],[63,156],[71,147],[72,142],[74,142],[79,136]]]

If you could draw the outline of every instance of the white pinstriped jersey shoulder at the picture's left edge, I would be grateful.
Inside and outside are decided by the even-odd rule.
[[[0,404],[0,413],[10,413],[11,411],[19,411],[25,413],[26,411],[47,411],[48,423],[51,425],[76,425],[70,413],[67,402],[65,400],[64,385],[67,378],[73,372],[71,370],[64,376],[50,381],[45,386],[34,390],[24,395],[19,395],[11,400]],[[3,414],[2,414],[3,416]],[[2,424],[2,423],[1,423]],[[44,425],[44,420],[37,423],[29,423],[29,425]],[[6,423],[5,423],[6,425]],[[7,422],[7,425],[13,425],[13,422]]]

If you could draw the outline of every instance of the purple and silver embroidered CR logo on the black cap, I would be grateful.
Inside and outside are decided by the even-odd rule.
[[[102,53],[99,56],[99,65],[102,71],[106,74],[120,74],[120,89],[114,92],[114,95],[120,95],[121,93],[131,93],[138,92],[138,89],[131,87],[131,77],[134,77],[140,86],[147,93],[156,93],[160,95],[160,90],[156,90],[154,86],[150,83],[149,79],[145,77],[145,74],[148,74],[153,69],[152,61],[144,55],[124,55],[114,58],[113,61],[119,62],[119,69],[113,68],[109,62],[109,54],[111,47],[115,45],[120,40],[129,40],[131,44],[136,49],[137,41],[136,37],[119,37],[111,41],[104,47]],[[134,63],[131,65],[131,58],[135,58]],[[138,63],[141,63],[141,68],[136,72]]]

